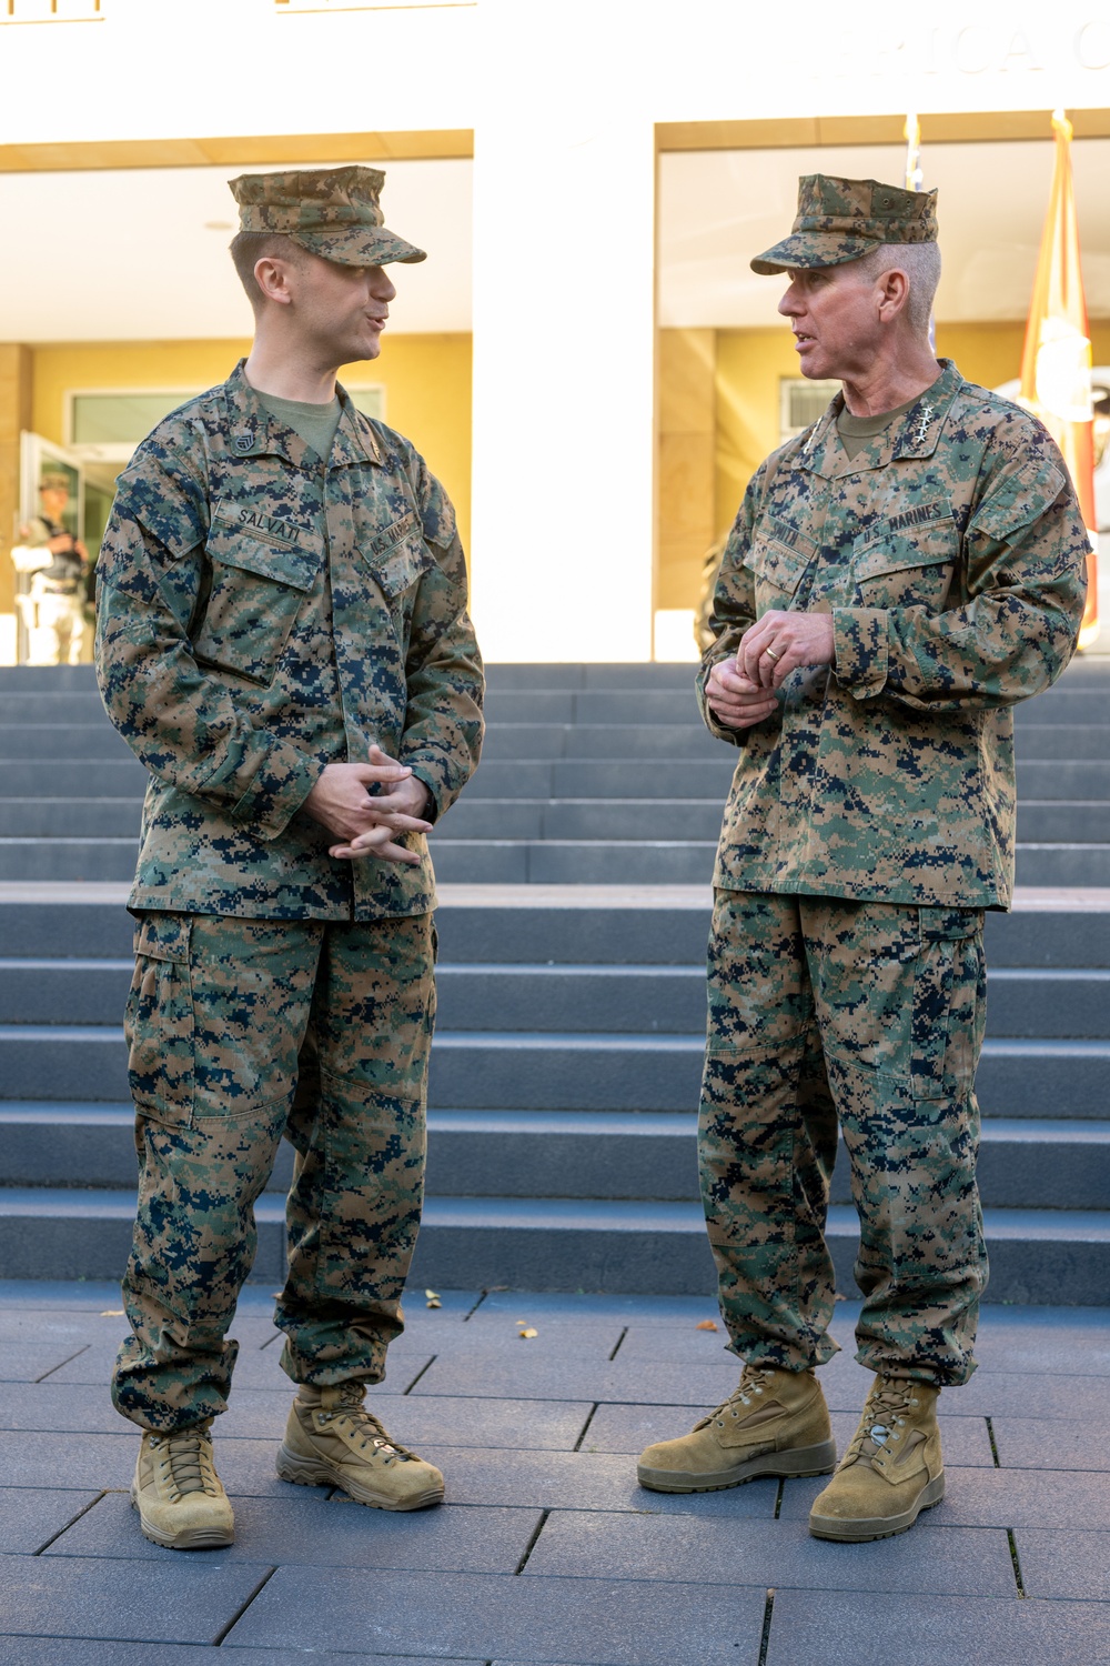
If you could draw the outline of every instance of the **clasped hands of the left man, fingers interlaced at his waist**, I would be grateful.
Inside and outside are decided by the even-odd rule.
[[[384,791],[371,796],[369,786]],[[428,800],[428,788],[408,765],[371,746],[368,763],[325,765],[303,808],[341,840],[330,846],[331,856],[378,856],[416,868],[419,851],[394,843],[394,835],[428,833],[431,821],[423,820]]]

